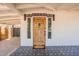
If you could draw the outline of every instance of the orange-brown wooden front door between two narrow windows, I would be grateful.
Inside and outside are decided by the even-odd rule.
[[[46,17],[33,18],[33,48],[45,48]]]

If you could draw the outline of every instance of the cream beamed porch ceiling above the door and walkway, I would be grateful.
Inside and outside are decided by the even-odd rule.
[[[28,10],[46,9],[49,11],[79,11],[78,3],[0,3],[0,23],[20,24],[20,17]],[[5,21],[7,20],[7,21]],[[16,21],[13,21],[16,20]]]

